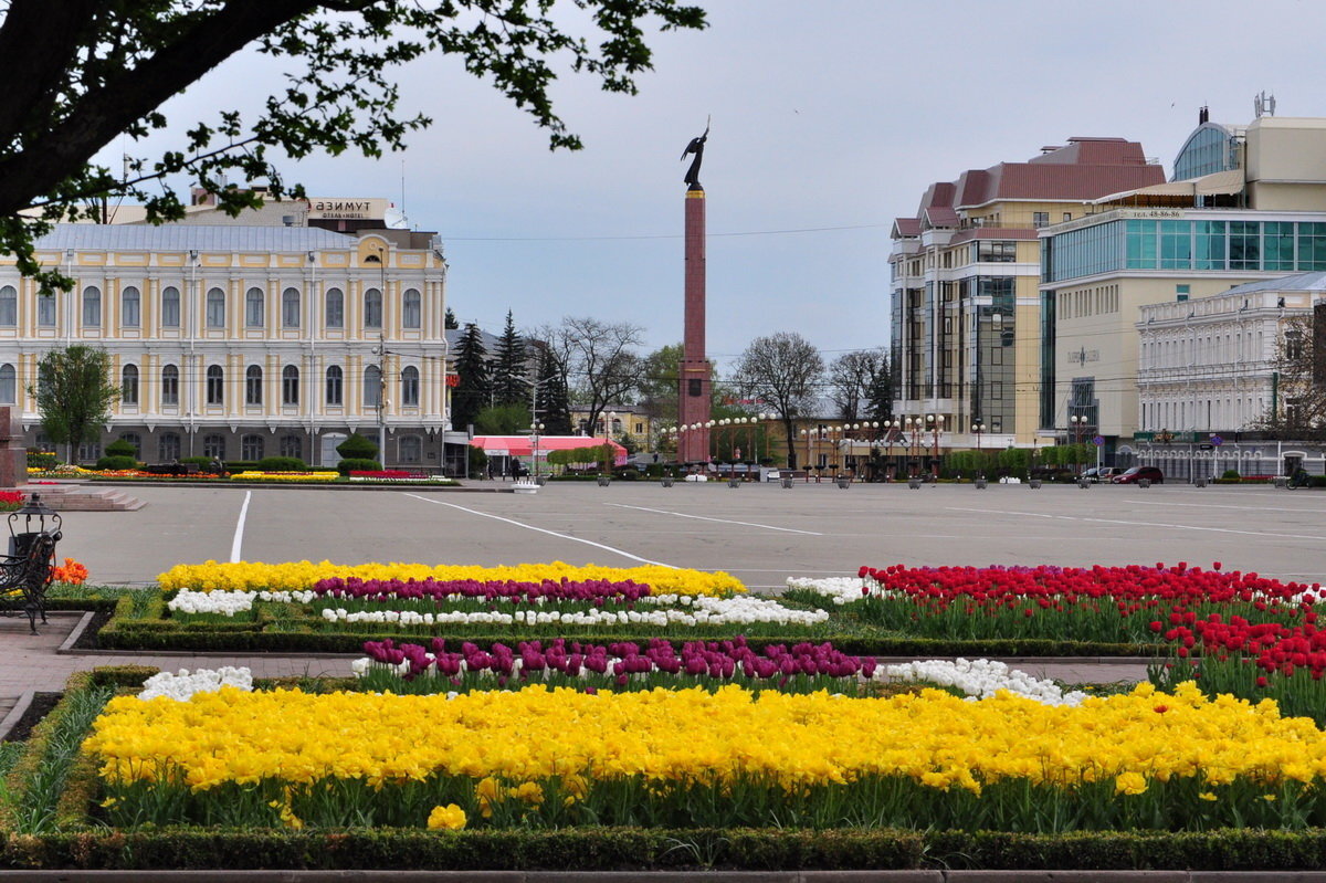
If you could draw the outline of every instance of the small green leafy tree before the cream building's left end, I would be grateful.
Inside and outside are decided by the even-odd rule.
[[[28,391],[37,399],[41,428],[52,442],[69,445],[73,463],[80,444],[99,438],[99,424],[119,399],[110,354],[82,345],[50,350],[37,365],[37,378]]]

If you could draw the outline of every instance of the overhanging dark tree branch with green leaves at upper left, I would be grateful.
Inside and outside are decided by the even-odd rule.
[[[568,21],[583,28],[569,32]],[[261,198],[224,184],[228,172],[269,182],[273,196],[301,196],[273,156],[381,156],[432,122],[398,106],[394,81],[427,54],[456,56],[546,127],[553,147],[577,148],[553,111],[557,66],[633,93],[635,76],[650,68],[651,25],[703,28],[704,13],[676,0],[9,0],[0,4],[0,58],[23,76],[0,95],[0,252],[45,288],[68,288],[33,256],[33,237],[53,219],[97,217],[89,206],[127,196],[143,202],[150,221],[178,220],[186,200],[171,180],[180,176],[217,194],[232,213]],[[171,126],[162,106],[245,49],[285,68],[263,110],[244,119],[221,109],[213,119]],[[172,148],[131,156],[127,175],[93,163],[121,135],[164,129],[179,133]],[[45,223],[20,220],[33,208]]]

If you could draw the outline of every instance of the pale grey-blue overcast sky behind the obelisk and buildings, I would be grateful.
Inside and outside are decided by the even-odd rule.
[[[402,74],[403,106],[435,119],[407,152],[320,156],[288,178],[310,195],[386,196],[439,232],[461,321],[500,331],[508,309],[520,327],[597,316],[643,326],[652,349],[682,339],[679,156],[712,115],[701,182],[721,370],[776,331],[826,359],[887,345],[888,228],[934,180],[1071,135],[1140,141],[1168,174],[1201,105],[1242,125],[1260,90],[1278,115],[1326,117],[1317,3],[703,5],[707,30],[650,36],[638,95],[562,78],[557,109],[583,151],[549,152],[522,111],[436,58]],[[244,107],[272,77],[245,56],[167,110],[183,127]],[[143,152],[109,152],[126,148]]]

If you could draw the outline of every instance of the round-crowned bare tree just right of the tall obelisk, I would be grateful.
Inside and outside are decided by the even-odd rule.
[[[735,382],[748,395],[770,404],[788,438],[788,465],[797,465],[794,422],[814,402],[825,361],[810,341],[794,331],[757,337],[737,358]]]

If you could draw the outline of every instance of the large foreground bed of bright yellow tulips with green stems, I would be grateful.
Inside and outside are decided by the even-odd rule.
[[[110,823],[1306,827],[1326,733],[1140,685],[1081,707],[940,691],[529,687],[118,697],[84,744]]]

